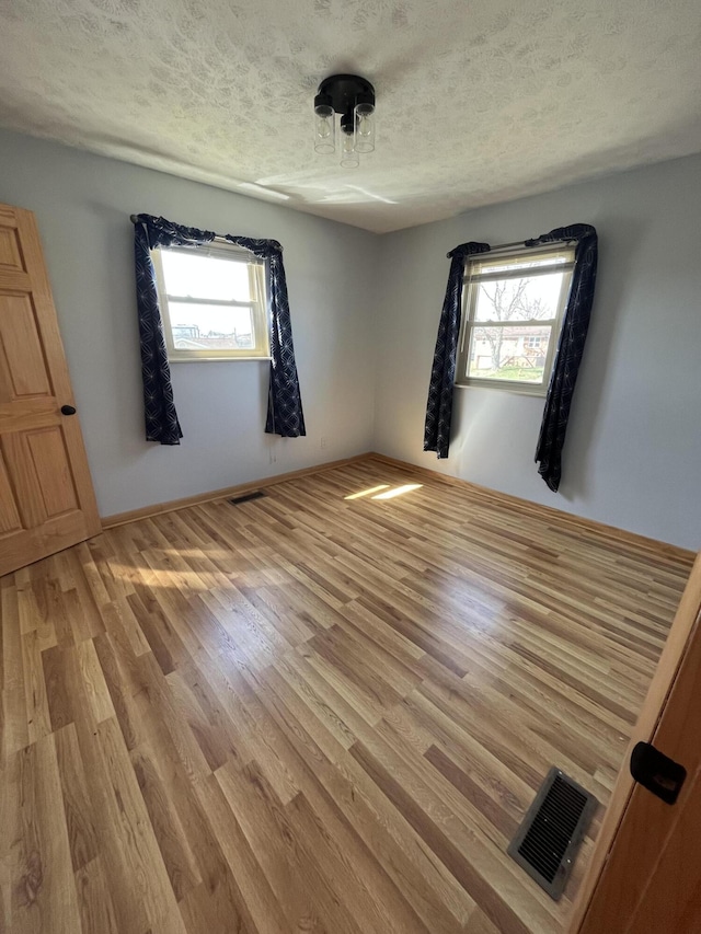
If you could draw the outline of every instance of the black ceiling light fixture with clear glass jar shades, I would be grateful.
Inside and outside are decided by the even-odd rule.
[[[355,169],[359,154],[375,149],[375,88],[357,74],[332,74],[314,97],[314,149],[336,151],[336,114],[341,115],[341,164]]]

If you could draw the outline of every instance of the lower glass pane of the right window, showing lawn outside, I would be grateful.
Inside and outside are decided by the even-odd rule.
[[[474,327],[468,376],[473,379],[542,383],[550,326]]]

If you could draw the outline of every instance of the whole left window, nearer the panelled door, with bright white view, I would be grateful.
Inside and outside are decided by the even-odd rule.
[[[269,357],[263,261],[220,244],[151,257],[169,360]]]

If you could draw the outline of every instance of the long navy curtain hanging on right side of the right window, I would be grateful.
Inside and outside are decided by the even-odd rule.
[[[536,448],[536,462],[539,464],[538,473],[553,493],[558,492],[562,476],[562,448],[565,442],[570,406],[572,405],[574,387],[589,327],[598,255],[596,229],[588,223],[559,227],[536,240],[527,240],[526,246],[538,246],[541,243],[559,240],[576,240],[577,245],[570,298],[567,299],[558,353],[545,397],[538,447]]]

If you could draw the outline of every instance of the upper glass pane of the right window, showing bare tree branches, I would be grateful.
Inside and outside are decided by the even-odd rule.
[[[475,321],[531,321],[558,313],[563,273],[474,284]]]

